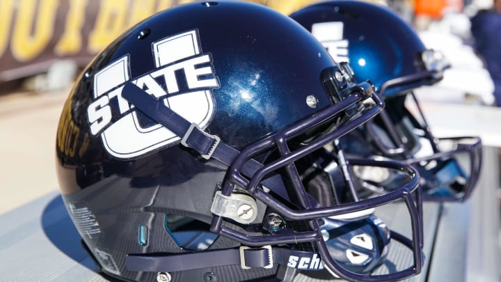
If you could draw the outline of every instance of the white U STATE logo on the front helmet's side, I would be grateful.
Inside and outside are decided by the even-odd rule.
[[[212,89],[219,87],[219,81],[211,55],[202,53],[198,31],[163,38],[153,42],[152,49],[157,68],[132,82],[189,122],[207,127],[214,115]],[[129,79],[129,55],[97,72],[94,100],[87,109],[90,132],[100,134],[109,154],[127,159],[180,140],[166,127],[134,111],[121,96]]]

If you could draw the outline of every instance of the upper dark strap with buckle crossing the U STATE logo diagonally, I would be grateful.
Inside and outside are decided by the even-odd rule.
[[[175,111],[166,107],[164,102],[157,100],[132,82],[125,84],[122,89],[122,97],[131,104],[134,104],[137,109],[160,125],[168,128],[168,130],[177,136],[181,136],[182,145],[197,150],[202,157],[212,157],[230,166],[240,153],[239,150],[220,141],[218,136],[200,130],[196,124],[190,123]],[[262,167],[263,165],[255,161],[255,159],[248,159],[241,171],[247,177],[252,177]],[[279,175],[274,175],[271,178],[263,180],[262,184],[281,197],[289,200],[287,190]]]

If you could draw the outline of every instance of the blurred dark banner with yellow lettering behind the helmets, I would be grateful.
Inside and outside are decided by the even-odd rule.
[[[86,65],[137,22],[186,0],[0,0],[0,81]],[[289,15],[314,0],[253,0]]]

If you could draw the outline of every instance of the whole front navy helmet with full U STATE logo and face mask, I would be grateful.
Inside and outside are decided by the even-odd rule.
[[[417,171],[353,160],[403,179],[363,200],[337,189],[355,180],[324,148],[381,111],[373,90],[264,6],[158,13],[104,49],[67,98],[56,146],[67,211],[102,272],[128,281],[411,276],[422,265]],[[407,237],[373,213],[399,199]],[[413,265],[372,276],[390,242]]]

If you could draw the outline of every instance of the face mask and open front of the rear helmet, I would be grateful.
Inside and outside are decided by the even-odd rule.
[[[378,155],[415,166],[424,200],[466,201],[479,178],[482,141],[475,136],[435,138],[415,95],[409,93],[408,97],[390,97],[386,100],[390,108],[364,125],[365,134],[371,136],[370,148]],[[415,113],[404,103],[415,107]]]

